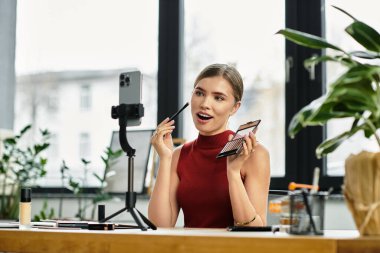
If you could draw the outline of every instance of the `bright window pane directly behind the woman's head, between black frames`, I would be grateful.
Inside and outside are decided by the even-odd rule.
[[[245,92],[229,128],[236,130],[247,121],[262,119],[257,136],[269,149],[272,176],[285,174],[285,44],[274,35],[285,27],[284,4],[277,0],[185,1],[184,99],[190,99],[202,68],[211,63],[235,65]],[[185,138],[196,138],[190,111],[184,117]]]

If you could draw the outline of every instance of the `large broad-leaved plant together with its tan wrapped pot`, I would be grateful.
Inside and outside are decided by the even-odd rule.
[[[305,60],[305,67],[330,61],[346,69],[329,84],[325,95],[303,107],[289,124],[288,134],[294,138],[307,126],[325,125],[333,119],[352,119],[348,129],[316,148],[319,158],[333,152],[357,132],[375,139],[380,149],[380,34],[346,11],[333,7],[352,18],[345,32],[364,49],[347,52],[318,36],[288,28],[278,31],[301,46],[333,50],[334,54]],[[380,152],[362,151],[346,159],[343,191],[360,234],[380,235]]]

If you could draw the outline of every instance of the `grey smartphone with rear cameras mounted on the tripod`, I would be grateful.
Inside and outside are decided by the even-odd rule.
[[[137,69],[119,76],[119,104],[141,104],[142,75]],[[141,125],[141,118],[127,119],[127,126]]]

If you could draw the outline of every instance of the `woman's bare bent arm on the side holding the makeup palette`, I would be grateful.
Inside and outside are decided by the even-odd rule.
[[[233,216],[236,225],[265,226],[270,183],[269,153],[264,146],[257,144],[248,156],[240,170],[227,172]]]

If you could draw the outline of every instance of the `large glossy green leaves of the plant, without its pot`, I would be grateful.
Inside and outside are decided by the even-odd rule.
[[[298,45],[315,49],[332,49],[332,55],[313,56],[304,62],[306,68],[321,62],[336,62],[346,71],[329,86],[327,94],[302,108],[291,120],[288,134],[291,138],[307,126],[324,125],[331,119],[352,118],[349,130],[322,142],[316,149],[317,157],[334,151],[356,132],[363,131],[366,138],[375,137],[380,147],[380,34],[357,20],[346,11],[353,22],[345,32],[364,47],[364,50],[347,52],[325,39],[293,29],[278,31]],[[376,64],[377,63],[377,64]]]

